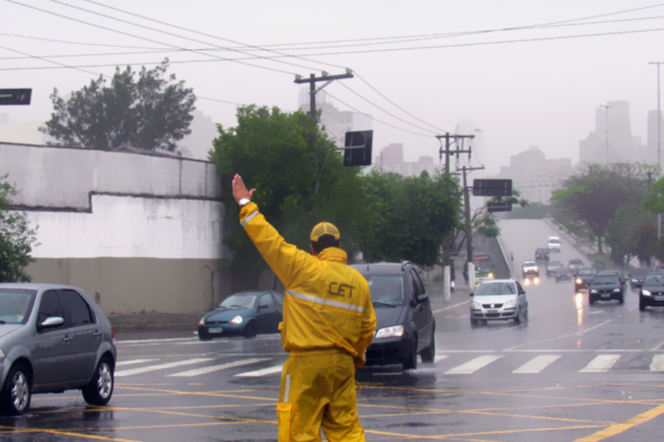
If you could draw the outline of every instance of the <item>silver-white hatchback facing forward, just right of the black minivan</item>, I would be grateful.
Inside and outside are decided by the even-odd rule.
[[[514,320],[520,324],[528,320],[526,291],[517,280],[484,281],[471,293],[470,325],[488,320]]]

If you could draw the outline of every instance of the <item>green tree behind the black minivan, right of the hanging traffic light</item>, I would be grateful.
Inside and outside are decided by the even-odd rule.
[[[370,218],[362,223],[365,260],[401,261],[430,268],[441,263],[441,244],[456,224],[461,189],[450,175],[365,176]]]

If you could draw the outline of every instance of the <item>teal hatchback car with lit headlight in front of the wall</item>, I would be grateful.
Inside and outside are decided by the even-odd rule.
[[[276,291],[241,291],[225,298],[199,322],[199,339],[223,336],[254,338],[259,333],[279,332],[284,296]]]

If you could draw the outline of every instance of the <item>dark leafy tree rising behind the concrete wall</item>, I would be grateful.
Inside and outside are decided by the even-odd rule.
[[[100,75],[65,100],[57,89],[50,95],[54,112],[40,131],[60,144],[110,151],[123,146],[174,151],[191,133],[192,89],[175,75],[166,75],[168,59],[136,73],[116,68],[111,85]]]

